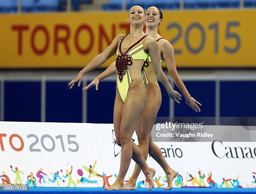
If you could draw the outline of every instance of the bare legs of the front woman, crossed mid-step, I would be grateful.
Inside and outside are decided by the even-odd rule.
[[[143,111],[146,103],[146,91],[143,83],[136,79],[134,80],[128,90],[127,98],[123,104],[122,119],[120,123],[120,144],[121,144],[121,161],[118,179],[115,183],[107,188],[107,190],[120,190],[124,189],[123,182],[125,174],[128,171],[133,156],[134,161],[141,166],[143,173],[150,184],[149,189],[154,187],[153,176],[155,170],[147,166],[143,155],[141,154],[138,146],[132,144],[131,137],[133,135],[138,118]]]

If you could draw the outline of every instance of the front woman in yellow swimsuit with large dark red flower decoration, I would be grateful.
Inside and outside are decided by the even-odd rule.
[[[145,174],[149,183],[148,190],[150,190],[154,187],[153,177],[155,170],[149,168],[140,149],[131,141],[133,132],[146,105],[146,88],[141,76],[141,68],[148,55],[151,56],[155,74],[163,83],[169,96],[176,101],[181,98],[179,93],[172,89],[161,69],[158,44],[143,32],[145,21],[143,8],[133,6],[129,10],[127,21],[130,24],[131,33],[116,36],[110,46],[100,55],[97,55],[68,85],[72,88],[74,83],[78,82],[78,86],[80,86],[82,76],[85,73],[100,66],[116,53],[117,86],[114,105],[114,128],[116,142],[121,146],[121,160],[118,178],[106,190],[125,189],[123,185],[124,178],[132,157]],[[87,90],[87,88],[83,90]]]

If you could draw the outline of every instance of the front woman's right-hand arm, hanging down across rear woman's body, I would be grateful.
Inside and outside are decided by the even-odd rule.
[[[156,73],[156,76],[159,78],[161,83],[164,85],[164,88],[166,89],[168,95],[174,99],[175,102],[180,103],[179,100],[181,100],[181,95],[174,91],[172,86],[170,85],[168,78],[164,74],[164,71],[161,68],[160,63],[160,48],[158,43],[151,37],[147,37],[145,40],[146,48],[148,50],[148,54],[150,55],[152,65],[154,68],[154,72]]]

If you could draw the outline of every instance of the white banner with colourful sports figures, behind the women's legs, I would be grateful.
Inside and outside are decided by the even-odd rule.
[[[138,144],[135,133],[133,141]],[[156,144],[179,172],[174,186],[256,187],[255,142]],[[113,124],[0,122],[0,183],[10,179],[28,186],[107,186],[118,175],[120,151]],[[161,166],[149,156],[147,163],[156,169],[155,186],[166,187]],[[134,166],[132,160],[126,181]],[[146,187],[142,172],[137,186]]]

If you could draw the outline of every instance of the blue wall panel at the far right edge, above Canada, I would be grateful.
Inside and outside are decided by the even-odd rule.
[[[221,81],[220,116],[256,116],[256,81]]]

